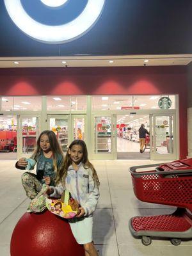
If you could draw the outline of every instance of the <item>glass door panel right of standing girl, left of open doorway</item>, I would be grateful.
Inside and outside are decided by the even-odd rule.
[[[114,159],[114,116],[93,116],[94,159]]]

